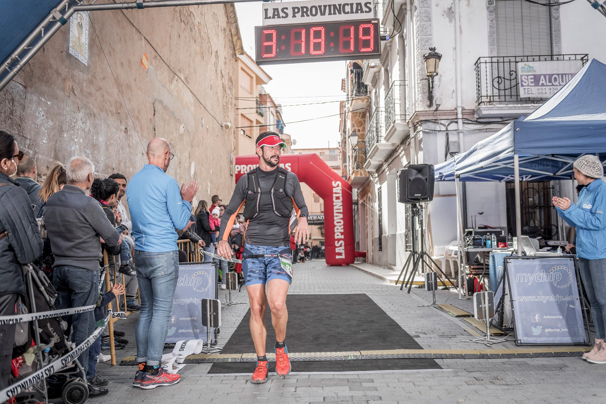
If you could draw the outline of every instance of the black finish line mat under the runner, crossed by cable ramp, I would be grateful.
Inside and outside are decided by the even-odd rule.
[[[288,294],[286,302],[286,343],[291,353],[422,349],[413,337],[366,294]],[[225,344],[221,354],[254,353],[249,319],[250,310]],[[267,353],[273,353],[276,334],[271,326],[269,308],[265,322]],[[254,366],[254,363],[246,362],[216,362],[208,373],[251,373]],[[293,361],[292,367],[293,372],[441,369],[441,366],[430,358]],[[269,370],[275,371],[274,362],[270,362]]]

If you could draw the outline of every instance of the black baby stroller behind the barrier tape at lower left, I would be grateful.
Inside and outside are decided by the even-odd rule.
[[[54,303],[57,292],[44,271],[32,264],[24,267],[24,273],[27,286],[25,306],[29,311],[39,313],[56,310]],[[59,316],[31,322],[29,332],[33,334],[36,352],[36,360],[32,363],[34,371],[44,368],[75,348],[73,343],[65,340],[64,331],[67,326],[67,322]],[[32,337],[28,338],[26,346],[15,348],[13,357],[24,353],[30,345],[33,345]],[[67,363],[61,370],[28,390],[30,391],[18,394],[16,402],[48,402],[48,399],[61,397],[65,404],[83,404],[88,399],[86,374],[78,359]],[[40,400],[41,396],[44,400]]]

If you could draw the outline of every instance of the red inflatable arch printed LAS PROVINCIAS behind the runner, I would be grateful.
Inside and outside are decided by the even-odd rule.
[[[236,182],[259,165],[259,156],[236,156]],[[327,265],[353,263],[353,200],[351,185],[315,153],[282,154],[280,165],[324,199],[324,246]],[[306,201],[308,202],[308,201]]]

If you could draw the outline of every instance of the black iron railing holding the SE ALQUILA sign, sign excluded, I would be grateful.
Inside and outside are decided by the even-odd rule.
[[[476,94],[478,105],[542,104],[547,98],[520,96],[519,62],[580,60],[587,63],[588,55],[490,56],[476,61]]]

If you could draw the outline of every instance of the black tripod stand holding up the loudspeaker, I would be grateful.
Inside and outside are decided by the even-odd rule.
[[[408,258],[406,259],[406,262],[404,263],[404,267],[402,267],[402,271],[400,272],[400,274],[398,276],[398,280],[396,280],[396,285],[398,285],[398,282],[400,281],[400,279],[402,279],[402,284],[400,286],[400,290],[404,290],[404,285],[407,285],[407,287],[408,287],[407,293],[410,293],[410,290],[413,287],[415,274],[418,273],[419,268],[421,269],[421,272],[424,273],[425,265],[427,265],[427,267],[431,270],[431,268],[432,268],[431,264],[433,264],[438,269],[435,272],[436,272],[436,275],[438,276],[439,280],[442,281],[443,285],[446,284],[444,278],[446,280],[448,280],[448,283],[450,283],[450,285],[454,285],[454,283],[450,280],[448,275],[445,274],[444,271],[442,271],[442,269],[439,267],[439,265],[425,251],[425,237],[424,237],[424,230],[423,230],[423,224],[424,224],[424,222],[423,222],[423,205],[422,204],[411,204],[410,208],[412,211],[411,213],[412,213],[412,221],[413,221],[413,232],[412,232],[413,250],[410,252],[410,255],[408,255]],[[420,248],[420,250],[417,250],[418,240],[416,237],[416,230],[415,230],[416,229],[415,224],[416,224],[417,220],[419,222],[419,227],[421,228],[421,248]]]

